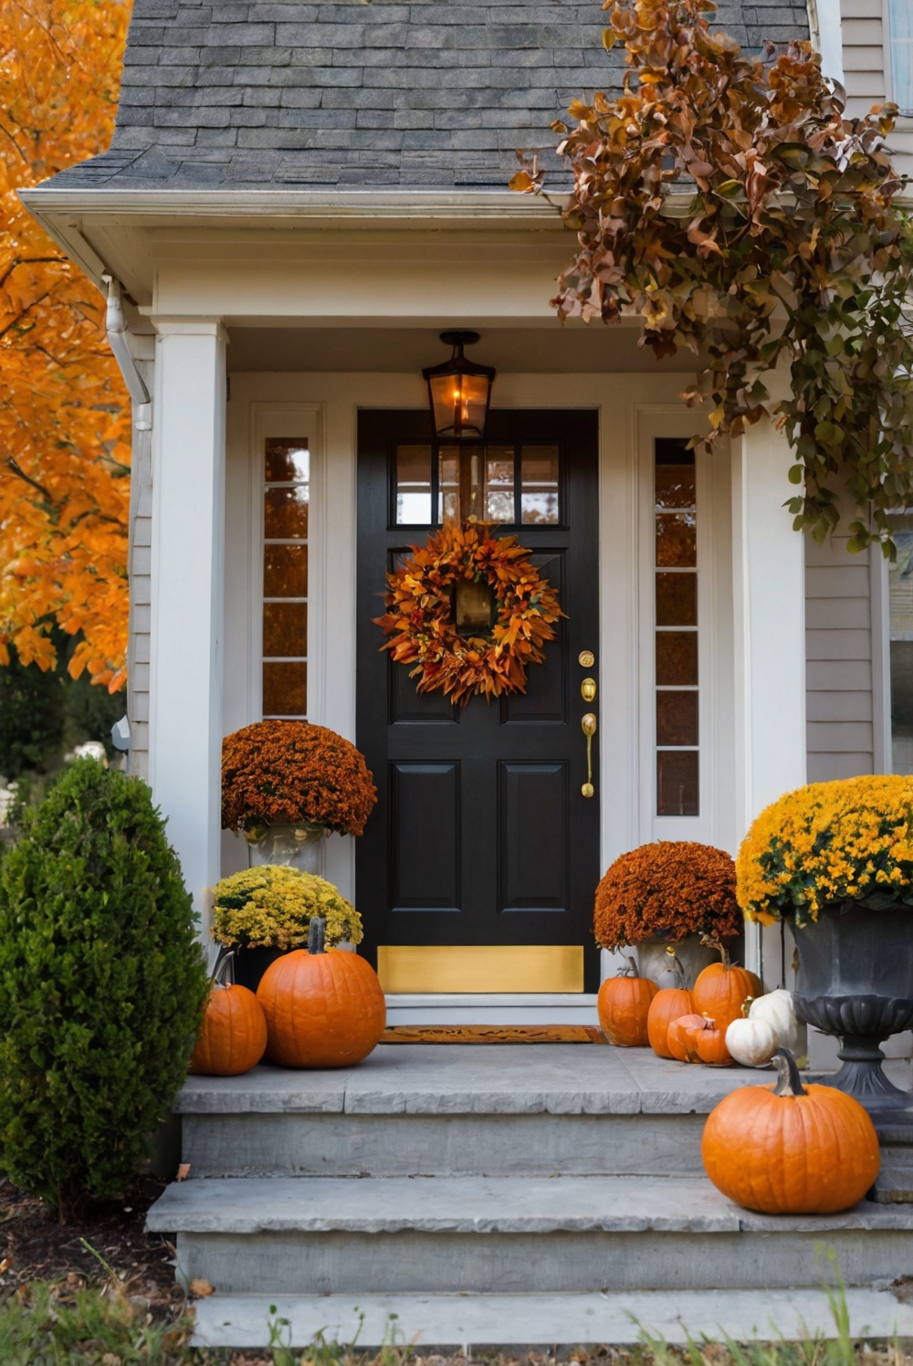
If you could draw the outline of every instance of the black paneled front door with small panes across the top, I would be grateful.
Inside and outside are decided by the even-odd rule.
[[[357,743],[379,791],[357,841],[364,951],[581,945],[577,989],[596,990],[599,738],[586,798],[581,719],[599,699],[584,701],[581,683],[599,671],[597,415],[492,411],[470,455],[473,508],[532,552],[567,616],[525,694],[465,708],[417,694],[372,617],[385,571],[458,497],[461,469],[465,510],[466,454],[431,438],[426,413],[359,414]]]

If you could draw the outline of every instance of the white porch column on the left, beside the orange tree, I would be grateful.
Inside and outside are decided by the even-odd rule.
[[[217,318],[154,318],[149,780],[208,929],[219,878],[226,342]]]

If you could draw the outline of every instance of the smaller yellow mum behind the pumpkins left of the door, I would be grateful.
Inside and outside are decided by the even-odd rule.
[[[303,948],[312,915],[327,921],[327,944],[364,936],[361,915],[316,873],[268,863],[223,877],[215,888],[212,936],[245,948]]]

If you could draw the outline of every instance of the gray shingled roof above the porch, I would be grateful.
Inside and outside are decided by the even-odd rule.
[[[749,48],[808,37],[795,0],[718,22]],[[55,189],[503,190],[573,98],[618,89],[604,26],[599,0],[135,0],[111,150]]]

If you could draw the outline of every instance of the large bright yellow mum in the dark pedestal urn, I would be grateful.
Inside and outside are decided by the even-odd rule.
[[[913,777],[809,783],[757,817],[735,862],[738,903],[771,925],[823,906],[913,906]]]

